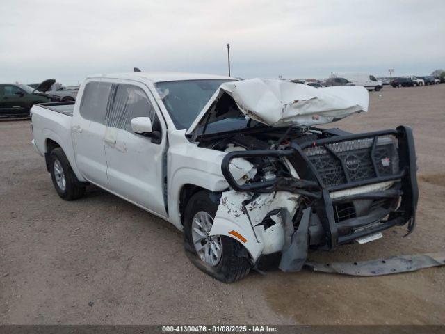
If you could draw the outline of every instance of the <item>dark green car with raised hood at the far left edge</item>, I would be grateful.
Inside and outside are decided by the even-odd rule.
[[[29,117],[33,104],[50,101],[51,98],[35,94],[27,85],[0,84],[0,118]]]

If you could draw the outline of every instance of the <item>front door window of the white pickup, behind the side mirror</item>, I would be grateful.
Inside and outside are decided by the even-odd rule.
[[[131,119],[149,117],[154,121],[154,108],[145,92],[137,86],[119,84],[113,104],[107,116],[108,127],[116,127],[133,133]]]

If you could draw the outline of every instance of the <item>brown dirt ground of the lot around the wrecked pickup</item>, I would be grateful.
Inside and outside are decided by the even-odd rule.
[[[410,125],[416,230],[311,253],[323,261],[445,250],[445,84],[372,92],[353,132]],[[58,198],[28,120],[0,121],[0,324],[445,324],[445,268],[357,278],[303,270],[226,285],[193,267],[168,223],[100,189]]]

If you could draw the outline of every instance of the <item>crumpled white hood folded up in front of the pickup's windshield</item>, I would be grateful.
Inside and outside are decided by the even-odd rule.
[[[188,128],[247,116],[265,125],[317,125],[368,111],[369,93],[362,86],[314,88],[284,80],[249,79],[222,84]]]

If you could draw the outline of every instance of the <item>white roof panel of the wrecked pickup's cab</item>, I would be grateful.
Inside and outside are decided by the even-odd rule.
[[[114,78],[114,79],[146,79],[153,82],[180,81],[180,80],[202,80],[202,79],[234,79],[223,75],[186,73],[186,72],[128,72],[113,74],[98,74],[88,78]]]

